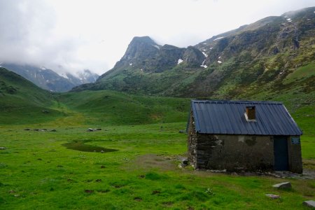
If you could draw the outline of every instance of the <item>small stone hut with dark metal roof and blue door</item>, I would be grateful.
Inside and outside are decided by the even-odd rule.
[[[281,102],[192,100],[187,132],[195,169],[302,173],[302,132]]]

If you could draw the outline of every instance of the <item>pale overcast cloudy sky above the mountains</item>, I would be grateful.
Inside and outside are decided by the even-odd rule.
[[[134,36],[195,45],[314,0],[0,0],[0,62],[102,74]]]

